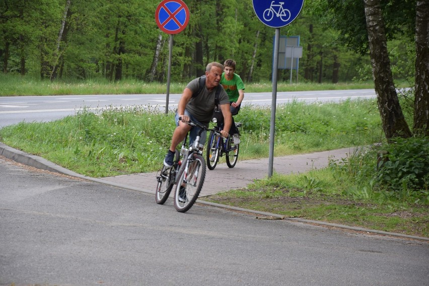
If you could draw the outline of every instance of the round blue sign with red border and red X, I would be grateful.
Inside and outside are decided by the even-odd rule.
[[[163,0],[155,12],[158,27],[167,34],[183,31],[189,22],[189,9],[182,0]]]

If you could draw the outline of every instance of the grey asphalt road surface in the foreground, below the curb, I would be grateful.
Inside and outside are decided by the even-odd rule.
[[[153,195],[0,156],[0,285],[427,285],[429,244]]]

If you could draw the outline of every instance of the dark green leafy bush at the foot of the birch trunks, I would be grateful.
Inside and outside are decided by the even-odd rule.
[[[380,188],[403,200],[429,202],[429,138],[394,138],[386,151],[377,174]]]

